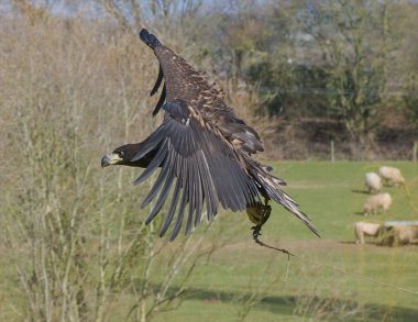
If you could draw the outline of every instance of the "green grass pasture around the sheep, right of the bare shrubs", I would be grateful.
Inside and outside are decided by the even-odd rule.
[[[408,191],[385,187],[394,199],[392,208],[385,215],[366,220],[417,220],[418,164],[384,164],[402,169]],[[245,321],[418,321],[418,293],[328,267],[418,292],[418,246],[354,244],[353,223],[365,220],[360,213],[367,198],[362,193],[364,174],[377,171],[381,165],[273,164],[275,174],[288,182],[286,191],[309,214],[322,237],[316,237],[296,218],[274,206],[262,240],[327,267],[292,258],[287,275],[287,256],[254,244],[250,224],[242,223],[245,214],[223,213],[217,224],[238,226],[234,237],[199,268],[179,309],[162,313],[156,320],[238,321],[251,307]]]

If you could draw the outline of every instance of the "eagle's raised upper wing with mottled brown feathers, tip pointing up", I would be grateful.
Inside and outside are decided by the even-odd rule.
[[[205,122],[217,127],[235,148],[250,154],[264,151],[256,131],[240,120],[233,109],[226,104],[223,91],[209,82],[206,73],[195,70],[146,30],[141,31],[140,37],[154,51],[160,63],[158,77],[152,95],[157,91],[164,78],[162,95],[153,115],[160,111],[165,99],[179,99],[198,111]]]

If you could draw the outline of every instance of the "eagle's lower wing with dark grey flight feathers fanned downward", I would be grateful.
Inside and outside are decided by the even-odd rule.
[[[131,162],[141,159],[150,151],[157,149],[153,160],[135,180],[139,185],[161,167],[158,177],[141,207],[155,198],[146,223],[161,211],[172,192],[172,201],[160,235],[164,235],[175,219],[170,234],[173,241],[187,212],[186,234],[201,219],[204,208],[210,220],[219,204],[232,211],[244,210],[258,200],[256,181],[248,175],[233,146],[221,134],[209,129],[191,113],[183,100],[174,100],[162,107],[163,124],[143,142],[142,151]],[[174,188],[173,188],[174,187]],[[158,197],[157,197],[158,196]],[[176,214],[177,213],[177,214]]]

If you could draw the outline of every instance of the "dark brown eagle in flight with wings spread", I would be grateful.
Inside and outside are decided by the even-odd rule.
[[[250,220],[256,224],[253,234],[257,236],[270,216],[270,200],[280,203],[319,235],[298,204],[280,190],[285,181],[251,157],[264,151],[263,143],[254,129],[237,118],[226,104],[222,91],[146,30],[141,31],[140,37],[160,62],[158,77],[151,95],[158,90],[164,79],[153,112],[155,115],[163,109],[164,121],[145,141],[122,145],[105,155],[101,166],[145,168],[135,185],[161,168],[141,204],[144,208],[156,199],[145,223],[158,214],[172,191],[160,232],[163,236],[174,221],[172,241],[180,231],[185,216],[185,233],[188,234],[199,224],[204,210],[210,220],[220,208],[246,209]]]

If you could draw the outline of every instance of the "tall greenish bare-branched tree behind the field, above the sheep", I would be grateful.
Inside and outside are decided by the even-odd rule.
[[[360,144],[373,141],[386,99],[389,10],[388,1],[322,1],[302,15],[324,55],[329,103]]]

